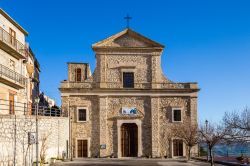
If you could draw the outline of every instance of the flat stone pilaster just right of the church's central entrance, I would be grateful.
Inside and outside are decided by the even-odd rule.
[[[152,115],[152,157],[159,157],[159,98],[151,98]]]

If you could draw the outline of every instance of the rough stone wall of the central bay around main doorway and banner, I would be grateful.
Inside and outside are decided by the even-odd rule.
[[[142,121],[142,154],[151,155],[151,109],[149,97],[108,97],[107,99],[107,149],[106,155],[118,153],[117,120],[131,119],[121,115],[122,107],[136,107],[138,117]]]

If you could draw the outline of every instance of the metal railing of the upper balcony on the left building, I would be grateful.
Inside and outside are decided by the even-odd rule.
[[[1,27],[0,27],[0,41],[7,44],[9,47],[14,49],[19,54],[25,56],[25,46]]]

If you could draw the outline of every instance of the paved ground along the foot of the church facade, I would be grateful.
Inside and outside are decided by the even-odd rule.
[[[56,166],[209,166],[200,161],[171,159],[74,159],[74,161],[56,163]],[[215,164],[216,166],[221,166]]]

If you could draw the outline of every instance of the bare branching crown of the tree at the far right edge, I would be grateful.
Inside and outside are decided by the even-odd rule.
[[[250,109],[242,112],[226,112],[223,118],[225,126],[229,129],[228,139],[232,142],[250,141]]]

